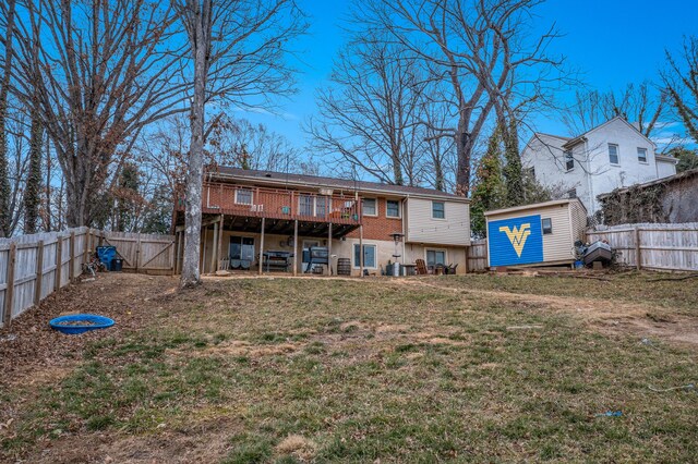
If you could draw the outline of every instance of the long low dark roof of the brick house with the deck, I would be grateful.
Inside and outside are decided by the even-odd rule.
[[[407,185],[390,185],[378,182],[353,181],[350,179],[324,178],[306,174],[287,174],[274,171],[219,167],[217,172],[209,175],[219,179],[242,180],[248,182],[263,182],[266,185],[327,187],[350,192],[370,192],[375,194],[395,195],[399,197],[418,196],[430,198],[447,198],[450,200],[469,203],[466,197],[441,192],[434,188],[414,187]]]

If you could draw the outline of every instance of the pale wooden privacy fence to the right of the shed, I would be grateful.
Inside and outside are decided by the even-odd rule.
[[[617,262],[637,269],[698,270],[698,223],[624,224],[587,233],[589,242],[606,240]]]

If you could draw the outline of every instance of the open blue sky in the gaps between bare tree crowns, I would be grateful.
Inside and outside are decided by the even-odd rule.
[[[282,115],[239,117],[263,122],[302,148],[306,135],[301,124],[315,114],[315,90],[326,83],[333,58],[345,41],[340,26],[349,7],[340,0],[300,0],[299,4],[311,16],[310,30],[298,42],[303,60],[299,93],[286,102]],[[698,34],[695,0],[550,0],[537,11],[541,30],[556,23],[564,34],[551,52],[564,54],[569,65],[583,72],[585,82],[599,90],[654,80],[664,49],[678,50],[685,35]],[[534,124],[539,131],[565,132],[554,120],[539,118]]]

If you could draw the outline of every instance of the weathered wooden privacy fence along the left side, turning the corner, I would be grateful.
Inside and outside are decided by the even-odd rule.
[[[98,245],[113,245],[123,270],[174,272],[174,237],[88,228],[0,239],[0,327],[81,273]]]

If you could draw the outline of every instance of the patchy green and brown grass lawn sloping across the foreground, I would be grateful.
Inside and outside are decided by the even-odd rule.
[[[659,277],[107,276],[139,325],[5,382],[0,461],[695,462],[698,279]]]

